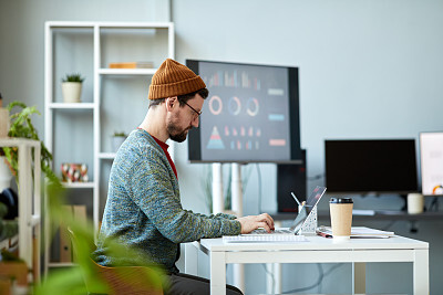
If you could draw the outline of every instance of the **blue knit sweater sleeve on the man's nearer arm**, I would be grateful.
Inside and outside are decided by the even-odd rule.
[[[163,236],[174,243],[202,238],[239,234],[241,225],[234,215],[212,217],[184,210],[171,182],[167,159],[159,150],[151,149],[126,175],[126,189],[133,201],[147,215]],[[234,217],[235,218],[235,217]]]

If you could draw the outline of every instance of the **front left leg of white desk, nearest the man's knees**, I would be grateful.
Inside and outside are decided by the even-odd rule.
[[[224,252],[210,252],[210,294],[226,295],[226,259]]]

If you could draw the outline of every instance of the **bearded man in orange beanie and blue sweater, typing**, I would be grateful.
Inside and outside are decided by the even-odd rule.
[[[111,168],[96,260],[102,265],[122,260],[106,255],[106,239],[116,238],[165,267],[171,278],[166,294],[209,293],[207,280],[178,273],[175,262],[179,243],[248,233],[257,228],[274,230],[274,220],[266,213],[208,217],[182,208],[177,171],[166,140],[182,143],[190,128],[198,127],[207,96],[198,75],[166,60],[152,77],[151,103],[143,123],[121,146]],[[228,294],[241,293],[228,286]]]

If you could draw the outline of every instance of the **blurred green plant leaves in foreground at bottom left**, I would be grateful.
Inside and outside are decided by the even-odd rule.
[[[51,273],[48,274],[47,280],[35,287],[34,294],[87,294],[85,282],[87,282],[90,289],[94,289],[94,293],[110,293],[107,282],[101,277],[96,267],[93,267],[91,261],[91,243],[93,243],[95,235],[92,222],[89,220],[84,222],[75,220],[73,214],[62,206],[65,203],[65,189],[56,177],[54,178],[52,176],[47,178],[47,198],[51,223],[55,225],[60,224],[62,221],[63,224],[69,226],[75,233],[76,243],[74,257],[76,260],[75,265],[72,267],[51,271]],[[51,233],[52,236],[53,233],[54,232]],[[124,261],[137,261],[140,262],[138,266],[150,267],[152,273],[150,273],[151,277],[146,277],[146,281],[148,281],[153,286],[162,288],[162,277],[165,277],[162,275],[162,268],[152,263],[143,263],[150,261],[150,259],[143,253],[131,250],[115,240],[111,240],[109,242],[106,241],[106,254],[114,257],[124,257]],[[131,282],[130,277],[126,283],[137,284],[140,282]]]

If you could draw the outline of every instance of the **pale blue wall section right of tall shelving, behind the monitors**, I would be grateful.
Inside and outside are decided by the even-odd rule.
[[[317,176],[323,173],[327,138],[418,139],[420,131],[443,130],[442,12],[440,0],[178,0],[173,1],[176,57],[181,62],[200,59],[299,66],[301,145],[308,150],[308,175]],[[181,175],[185,183],[192,183],[199,167],[186,166],[186,146],[178,149]],[[272,211],[275,168],[260,167],[261,210]],[[258,212],[257,180],[253,167],[246,213]],[[184,202],[196,206],[195,186],[185,183],[181,186]],[[321,183],[323,179],[309,181],[308,190]],[[403,204],[396,196],[356,199],[361,209],[400,209]],[[436,249],[443,241],[432,231],[441,232],[443,222],[419,222],[418,234],[410,232],[408,222],[372,225],[432,241],[431,293],[436,292],[441,283],[433,277],[443,265],[443,253]],[[315,265],[285,267],[284,291],[310,285],[319,274]],[[368,292],[412,293],[412,284],[403,282],[411,275],[410,265],[368,267]],[[247,277],[251,294],[264,292],[265,272],[255,270]],[[340,266],[324,278],[322,292],[349,292],[334,283],[343,280],[349,287],[348,276],[349,270]],[[387,289],[390,281],[384,277],[391,276],[393,286]]]

